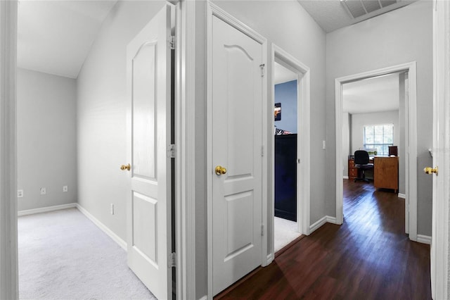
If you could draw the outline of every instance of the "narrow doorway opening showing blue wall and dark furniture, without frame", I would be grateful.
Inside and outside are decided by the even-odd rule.
[[[274,63],[274,247],[281,250],[297,237],[297,73]]]

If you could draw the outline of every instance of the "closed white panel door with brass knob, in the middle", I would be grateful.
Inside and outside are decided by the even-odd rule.
[[[262,51],[262,44],[213,17],[214,294],[261,265]]]

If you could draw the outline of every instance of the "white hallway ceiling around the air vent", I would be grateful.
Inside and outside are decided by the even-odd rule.
[[[375,15],[392,11],[401,6],[406,6],[413,3],[416,0],[399,0],[397,4],[386,6],[378,11],[373,11],[359,18],[353,18],[347,12],[342,4],[343,0],[297,0],[303,6],[303,8],[311,15],[311,17],[319,24],[325,32],[332,32],[339,28],[359,23],[368,18],[372,18]],[[355,1],[355,0],[347,0]],[[370,1],[370,0],[361,0]],[[376,0],[375,0],[376,1]]]

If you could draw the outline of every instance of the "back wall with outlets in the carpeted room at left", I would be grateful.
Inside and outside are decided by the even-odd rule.
[[[18,189],[24,190],[19,211],[77,202],[75,84],[67,77],[18,68]]]

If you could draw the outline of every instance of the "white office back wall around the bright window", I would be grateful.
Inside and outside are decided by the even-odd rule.
[[[364,147],[364,125],[394,124],[394,146],[399,146],[399,111],[383,111],[380,113],[353,113],[352,114],[352,149],[354,151]],[[347,154],[348,155],[348,154]]]

